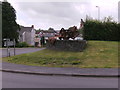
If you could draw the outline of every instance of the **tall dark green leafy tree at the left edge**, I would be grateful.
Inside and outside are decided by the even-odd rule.
[[[16,23],[16,11],[9,2],[2,2],[2,39],[18,40],[19,25]]]

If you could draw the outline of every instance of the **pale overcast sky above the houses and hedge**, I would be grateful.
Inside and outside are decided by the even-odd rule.
[[[35,29],[55,30],[77,26],[86,15],[98,19],[112,16],[118,21],[118,1],[120,0],[7,0],[16,10],[17,23],[23,26],[34,25]],[[48,2],[49,1],[49,2]]]

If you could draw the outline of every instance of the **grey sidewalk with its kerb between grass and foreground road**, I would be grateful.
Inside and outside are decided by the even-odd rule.
[[[59,76],[82,76],[82,77],[118,77],[117,68],[55,68],[27,66],[2,62],[4,72],[36,74],[36,75],[59,75]]]

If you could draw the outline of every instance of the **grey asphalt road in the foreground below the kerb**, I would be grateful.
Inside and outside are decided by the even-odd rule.
[[[42,76],[2,73],[3,88],[117,88],[118,78]]]

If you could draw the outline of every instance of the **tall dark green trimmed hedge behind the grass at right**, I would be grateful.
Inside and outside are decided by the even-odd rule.
[[[120,41],[120,23],[86,20],[84,23],[85,40]]]

